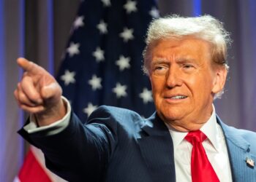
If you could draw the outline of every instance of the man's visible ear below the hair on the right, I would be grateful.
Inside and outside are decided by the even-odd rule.
[[[225,67],[215,68],[213,88],[211,92],[214,94],[220,92],[225,86],[226,78],[227,69]]]

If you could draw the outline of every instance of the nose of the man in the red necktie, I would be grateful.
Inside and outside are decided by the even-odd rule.
[[[180,87],[182,84],[181,72],[175,66],[170,66],[166,75],[166,85],[169,88]]]

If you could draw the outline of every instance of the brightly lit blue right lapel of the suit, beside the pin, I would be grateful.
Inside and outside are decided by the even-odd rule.
[[[237,129],[224,124],[218,116],[217,121],[225,135],[233,181],[255,181],[256,169],[246,163],[247,158],[254,161],[256,159],[250,154],[250,144],[241,137]]]

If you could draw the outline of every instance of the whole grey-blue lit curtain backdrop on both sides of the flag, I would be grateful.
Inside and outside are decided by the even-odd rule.
[[[12,96],[21,75],[15,60],[26,56],[55,74],[79,4],[79,0],[33,1],[25,4],[25,1],[0,0],[0,181],[12,181],[23,162],[24,142],[16,133],[23,124],[23,113]],[[158,3],[161,15],[209,14],[224,23],[233,44],[228,50],[230,72],[225,94],[215,101],[217,114],[227,124],[256,131],[256,1],[159,0]],[[25,5],[32,6],[29,8],[34,11]]]

